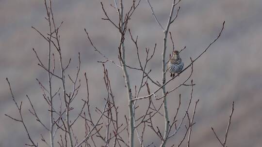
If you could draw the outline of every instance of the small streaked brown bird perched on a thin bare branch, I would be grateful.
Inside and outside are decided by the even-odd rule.
[[[172,57],[169,59],[167,63],[167,70],[171,73],[171,77],[175,76],[175,73],[179,73],[183,70],[184,63],[182,62],[182,59],[179,56],[179,51],[175,50],[173,51]]]

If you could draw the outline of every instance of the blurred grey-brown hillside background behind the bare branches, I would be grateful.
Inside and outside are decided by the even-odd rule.
[[[124,0],[125,6],[130,6],[131,0]],[[128,2],[127,2],[128,1]],[[103,0],[108,15],[117,20],[115,9],[110,4],[113,0]],[[165,26],[170,13],[172,0],[151,0],[155,14]],[[205,47],[216,38],[225,20],[225,29],[221,37],[210,49],[195,62],[193,80],[197,84],[194,87],[193,102],[200,99],[197,106],[197,114],[191,137],[193,147],[219,147],[211,127],[213,127],[220,138],[228,124],[231,103],[235,101],[235,112],[232,117],[232,125],[229,128],[229,147],[261,147],[262,144],[262,0],[182,0],[178,5],[181,7],[178,18],[171,25],[175,48],[186,49],[180,53],[186,65],[198,56]],[[176,8],[177,10],[177,8]],[[176,12],[175,10],[175,12]],[[100,1],[97,0],[54,0],[53,11],[56,22],[64,21],[60,29],[62,52],[65,64],[72,58],[67,73],[73,74],[78,64],[78,52],[82,59],[82,81],[83,73],[87,72],[90,85],[90,99],[93,108],[101,107],[103,98],[106,96],[103,83],[103,69],[101,63],[103,57],[94,51],[87,41],[83,29],[86,28],[94,44],[103,54],[118,62],[119,34],[112,24],[104,21]],[[40,133],[47,139],[48,132],[44,130],[31,116],[27,102],[28,94],[37,113],[44,123],[49,123],[49,112],[47,104],[42,98],[42,90],[35,78],[47,85],[47,73],[37,65],[37,59],[32,48],[47,65],[48,44],[39,36],[31,26],[45,33],[48,31],[46,10],[43,0],[0,0],[0,147],[22,147],[29,143],[28,137],[22,124],[4,116],[9,114],[18,117],[15,104],[12,101],[8,84],[8,77],[13,88],[16,100],[23,101],[22,114],[26,124],[39,142],[41,147]],[[163,31],[151,15],[146,0],[141,4],[131,17],[129,28],[134,36],[138,35],[138,45],[141,56],[145,54],[145,48],[153,49],[157,44],[156,53],[148,64],[147,71],[152,69],[151,76],[161,81],[161,53]],[[172,51],[168,37],[167,57]],[[128,65],[138,67],[135,46],[131,43],[127,34],[126,40]],[[55,50],[54,50],[55,52]],[[115,100],[121,110],[119,116],[124,121],[124,115],[128,115],[127,95],[124,87],[122,71],[106,63]],[[56,71],[57,73],[59,71]],[[131,87],[139,84],[141,73],[129,70]],[[181,74],[166,87],[167,90],[179,85],[187,77],[190,71]],[[168,77],[169,78],[169,77]],[[59,85],[59,81],[54,81]],[[152,86],[151,90],[155,87]],[[82,82],[82,85],[85,85]],[[67,88],[71,88],[69,85]],[[191,88],[181,87],[168,96],[168,108],[170,117],[174,116],[178,106],[179,94],[182,95],[182,107],[179,118],[184,112],[185,106],[190,98]],[[82,87],[79,98],[72,111],[76,116],[81,109],[81,98],[85,97],[85,88]],[[146,91],[141,93],[141,96]],[[161,93],[158,93],[161,95]],[[141,101],[139,112],[144,112],[143,105],[147,101]],[[162,110],[162,109],[161,109]],[[192,110],[192,108],[190,109]],[[190,111],[191,112],[191,111]],[[97,115],[97,113],[93,113]],[[156,124],[164,129],[163,118],[155,118]],[[74,131],[82,134],[83,123],[77,122]],[[148,132],[151,132],[149,129]],[[178,144],[183,135],[169,140],[168,146]],[[80,137],[82,138],[82,137]],[[149,133],[145,136],[145,145],[151,142],[156,146],[160,144],[157,136]],[[137,142],[137,140],[136,140]],[[137,145],[138,146],[138,145]]]

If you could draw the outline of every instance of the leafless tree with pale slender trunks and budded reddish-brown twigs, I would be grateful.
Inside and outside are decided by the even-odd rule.
[[[193,89],[195,83],[193,83],[192,74],[193,74],[193,63],[199,59],[209,48],[210,46],[216,42],[216,40],[221,36],[222,31],[224,30],[224,24],[219,31],[217,37],[210,43],[202,52],[199,53],[196,58],[190,58],[191,63],[185,66],[185,68],[179,73],[183,74],[184,71],[190,69],[190,73],[188,76],[176,87],[171,88],[171,90],[166,91],[165,87],[173,81],[175,78],[178,78],[178,75],[174,76],[173,78],[166,80],[166,49],[167,49],[167,38],[168,32],[171,24],[175,21],[178,17],[180,7],[177,8],[177,13],[174,15],[174,11],[176,6],[180,3],[181,0],[172,0],[172,6],[170,10],[170,14],[168,17],[167,24],[165,28],[163,27],[162,23],[157,18],[156,14],[154,13],[154,9],[149,0],[147,3],[151,9],[152,15],[156,20],[157,24],[163,30],[164,38],[163,38],[163,52],[162,52],[162,83],[158,82],[157,79],[151,77],[151,73],[156,72],[152,71],[151,69],[148,70],[147,65],[151,62],[151,60],[158,56],[155,54],[157,44],[154,44],[153,49],[146,48],[145,52],[143,53],[145,58],[141,58],[141,48],[139,47],[139,40],[138,36],[134,36],[132,34],[131,29],[129,28],[129,21],[131,20],[132,15],[135,13],[135,10],[140,5],[141,0],[133,0],[131,5],[125,5],[123,0],[119,0],[119,3],[114,0],[114,5],[111,4],[111,7],[115,9],[117,13],[117,22],[114,22],[111,17],[109,16],[106,7],[101,2],[101,9],[104,14],[102,20],[110,22],[116,30],[116,33],[119,33],[119,42],[118,46],[118,54],[115,59],[110,59],[107,55],[103,54],[101,49],[92,42],[92,37],[90,37],[87,29],[84,29],[87,39],[94,48],[94,50],[100,54],[105,61],[98,61],[101,63],[103,67],[104,76],[102,78],[106,93],[106,97],[103,99],[104,105],[102,108],[96,107],[96,112],[98,113],[97,117],[94,117],[94,114],[90,111],[92,109],[90,98],[89,98],[89,84],[88,84],[88,75],[84,73],[84,81],[85,81],[85,88],[86,88],[86,99],[79,100],[78,92],[82,88],[81,80],[80,80],[80,71],[81,71],[81,53],[78,53],[78,65],[74,75],[69,75],[66,70],[69,68],[69,64],[71,63],[71,59],[65,59],[62,56],[62,47],[60,42],[60,29],[62,27],[63,21],[59,24],[55,23],[55,17],[52,10],[52,1],[51,0],[44,0],[44,5],[46,8],[47,16],[45,17],[47,20],[48,32],[43,33],[40,30],[32,27],[40,36],[44,38],[44,40],[48,43],[48,58],[47,61],[40,59],[37,50],[33,49],[33,52],[38,60],[38,65],[47,73],[48,78],[48,88],[46,85],[42,83],[40,80],[36,79],[39,83],[40,88],[43,90],[43,98],[46,101],[46,104],[49,106],[49,126],[46,125],[39,115],[36,113],[36,109],[34,104],[32,103],[30,97],[27,95],[27,99],[31,105],[31,109],[29,110],[30,113],[36,118],[37,122],[39,122],[47,132],[49,132],[49,140],[45,139],[42,134],[40,134],[41,141],[43,141],[46,146],[48,147],[97,147],[102,145],[102,147],[135,147],[136,144],[139,143],[140,147],[150,147],[154,146],[155,143],[152,142],[148,145],[145,145],[144,136],[146,134],[146,130],[150,130],[154,133],[160,142],[160,147],[165,147],[166,143],[175,135],[180,132],[180,128],[185,127],[185,132],[180,132],[182,134],[182,139],[176,143],[177,147],[180,147],[184,142],[186,136],[187,137],[187,147],[190,147],[190,138],[192,134],[192,128],[196,123],[194,120],[195,114],[197,112],[197,103],[199,99],[195,102],[193,107],[193,111],[189,112],[190,107],[192,107],[193,101]],[[125,8],[125,9],[124,9]],[[174,41],[170,34],[170,41],[173,44],[173,50],[175,48]],[[130,39],[127,39],[127,35],[130,36]],[[125,46],[125,42],[131,42],[135,49],[136,49],[136,58],[138,60],[139,66],[132,67],[127,63],[126,60],[126,51],[129,49]],[[186,47],[180,50],[183,51]],[[55,55],[58,55],[58,63],[59,67],[56,67],[55,61],[57,60]],[[114,60],[118,59],[119,63],[115,62]],[[67,61],[66,61],[67,60]],[[47,63],[46,63],[47,62]],[[67,63],[66,65],[64,63]],[[106,63],[111,62],[117,68],[119,68],[123,74],[125,80],[125,87],[126,87],[126,94],[128,99],[128,116],[119,116],[119,107],[115,103],[115,96],[114,92],[111,88],[111,80],[109,76],[109,70],[106,68]],[[47,64],[47,65],[46,65]],[[131,88],[131,80],[130,76],[131,73],[128,72],[127,69],[134,70],[137,73],[140,73],[140,80],[138,83],[132,83],[135,85],[134,88]],[[59,72],[56,72],[56,71]],[[53,79],[55,78],[55,79]],[[23,124],[24,129],[28,135],[30,140],[30,144],[26,144],[27,146],[38,147],[38,143],[33,140],[32,135],[30,134],[29,128],[26,126],[26,123],[23,119],[23,115],[21,112],[22,109],[22,102],[20,104],[17,103],[14,93],[11,88],[11,84],[8,79],[6,79],[9,84],[9,89],[11,91],[11,96],[13,98],[14,103],[16,104],[18,113],[20,118],[13,118],[10,115],[7,117],[12,118],[20,123]],[[55,87],[54,81],[59,80],[60,86]],[[191,82],[190,82],[191,81]],[[71,89],[67,89],[67,86],[71,86]],[[156,86],[157,88],[153,88]],[[173,91],[177,90],[180,87],[191,88],[190,99],[188,100],[187,107],[184,111],[181,112],[181,95],[179,96],[179,103],[177,107],[177,111],[175,113],[174,118],[169,118],[168,116],[168,108],[167,108],[167,95],[172,93]],[[141,96],[141,91],[147,91],[147,95]],[[158,91],[162,91],[161,96],[157,96]],[[119,92],[119,91],[117,91]],[[54,105],[54,99],[59,100],[59,105]],[[148,102],[146,107],[143,107],[144,113],[138,114],[136,113],[137,108],[140,106],[137,102],[145,100]],[[71,112],[74,110],[74,105],[72,102],[74,101],[81,101],[82,107],[80,112],[77,116],[72,116]],[[163,108],[163,110],[161,110]],[[178,114],[182,114],[182,118],[178,119]],[[229,125],[231,122],[231,116],[233,113],[233,108],[231,115],[229,117]],[[161,132],[160,126],[155,124],[152,119],[155,118],[157,115],[164,117],[164,132]],[[190,117],[191,116],[191,117]],[[95,119],[96,118],[96,119]],[[74,132],[74,124],[76,121],[82,120],[83,127],[85,129],[84,136],[77,136]],[[125,120],[125,124],[121,123],[121,121]],[[226,131],[224,143],[220,141],[217,137],[216,133],[214,132],[215,136],[219,140],[220,144],[225,147],[228,131]],[[212,128],[213,130],[213,128]],[[128,137],[126,137],[128,136]],[[136,136],[136,137],[135,137]],[[81,137],[81,139],[79,139]],[[137,141],[136,141],[137,140]],[[175,144],[172,145],[172,147]]]

